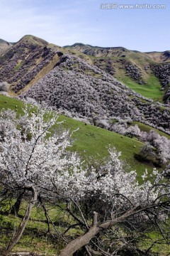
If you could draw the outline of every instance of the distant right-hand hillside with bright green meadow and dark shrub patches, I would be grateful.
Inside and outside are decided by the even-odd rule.
[[[74,50],[74,53],[88,55],[91,62],[98,68],[102,68],[143,96],[169,103],[169,95],[167,95],[169,84],[164,86],[155,70],[155,66],[159,68],[161,65],[170,69],[168,50],[163,53],[140,53],[123,47],[103,48],[82,43],[64,48]],[[170,73],[162,70],[162,75],[166,80],[170,80]]]

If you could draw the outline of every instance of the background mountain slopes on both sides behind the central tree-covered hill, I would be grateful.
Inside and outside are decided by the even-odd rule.
[[[1,40],[8,46],[8,42]],[[60,51],[59,51],[60,50]],[[47,43],[35,36],[24,36],[14,46],[10,44],[0,55],[0,82],[6,80],[15,93],[32,86],[48,73],[59,60],[62,53],[77,55],[91,65],[103,69],[106,73],[125,83],[145,97],[154,101],[169,103],[169,51],[164,53],[140,53],[123,47],[102,48],[75,43],[61,48]],[[59,55],[57,55],[59,54]],[[157,61],[164,60],[163,63]],[[166,80],[162,82],[157,69]],[[168,68],[167,68],[168,67]],[[168,72],[167,72],[168,70]],[[159,72],[159,73],[160,73]]]

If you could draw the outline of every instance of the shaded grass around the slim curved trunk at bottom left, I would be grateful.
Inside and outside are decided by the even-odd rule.
[[[23,201],[19,215],[25,214],[27,203]],[[47,213],[50,219],[55,224],[55,228],[61,234],[67,230],[69,224],[73,224],[72,218],[68,218],[65,212],[65,206],[46,205]],[[13,235],[13,230],[18,228],[21,223],[21,218],[14,215],[0,214],[0,248],[8,245],[8,242]],[[26,225],[21,240],[15,245],[15,252],[34,252],[38,255],[53,256],[63,247],[63,240],[57,235],[56,230],[50,223],[50,232],[47,233],[48,225],[45,218],[45,213],[42,207],[36,205],[33,207],[30,215],[30,220]],[[78,228],[71,228],[66,235],[80,235],[81,230]]]

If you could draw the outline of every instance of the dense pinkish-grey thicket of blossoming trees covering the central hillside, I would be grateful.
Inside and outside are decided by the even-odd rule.
[[[103,70],[81,58],[63,55],[56,67],[23,97],[45,101],[72,116],[94,119],[132,119],[169,132],[169,107],[130,90]]]

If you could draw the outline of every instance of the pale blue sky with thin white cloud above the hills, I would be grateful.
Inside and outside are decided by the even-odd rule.
[[[161,6],[163,5],[163,6]],[[0,0],[0,38],[170,50],[169,0]]]

